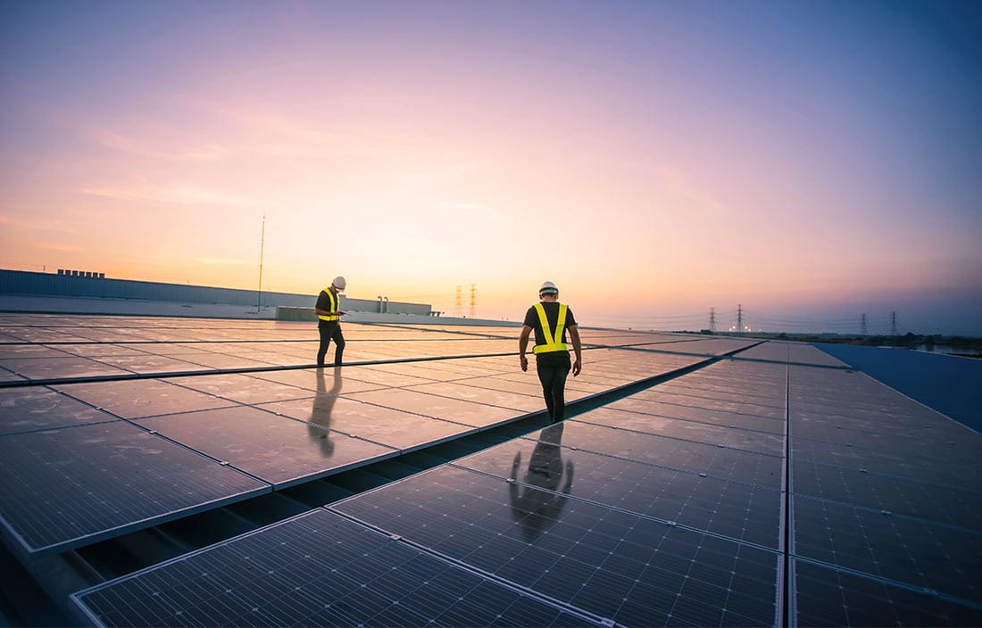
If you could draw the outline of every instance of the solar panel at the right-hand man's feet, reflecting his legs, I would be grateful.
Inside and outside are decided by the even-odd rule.
[[[538,441],[517,439],[455,464],[737,541],[778,547],[780,491],[557,445],[566,443],[564,431],[577,427],[567,421],[544,430]],[[597,440],[591,448],[602,445]]]

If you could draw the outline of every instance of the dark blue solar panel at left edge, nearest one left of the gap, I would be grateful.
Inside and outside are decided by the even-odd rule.
[[[0,513],[23,549],[79,547],[269,485],[123,422],[0,437]]]

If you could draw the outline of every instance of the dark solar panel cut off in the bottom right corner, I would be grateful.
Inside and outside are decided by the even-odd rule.
[[[798,626],[979,626],[982,608],[793,560]]]

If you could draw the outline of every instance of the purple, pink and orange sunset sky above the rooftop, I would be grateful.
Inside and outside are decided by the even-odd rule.
[[[0,267],[982,335],[978,2],[2,2]]]

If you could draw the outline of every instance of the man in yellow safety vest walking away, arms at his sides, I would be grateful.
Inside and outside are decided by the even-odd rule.
[[[521,370],[528,370],[528,358],[525,348],[528,346],[528,336],[535,331],[535,370],[542,383],[542,394],[546,398],[546,408],[549,409],[549,419],[553,423],[563,420],[566,414],[566,378],[570,374],[570,350],[566,344],[566,334],[570,333],[576,360],[573,362],[573,377],[579,375],[582,364],[582,354],[579,346],[579,331],[576,329],[576,319],[565,303],[559,302],[559,288],[552,282],[546,282],[539,288],[540,302],[528,308],[525,313],[524,325],[518,336],[518,362]]]

